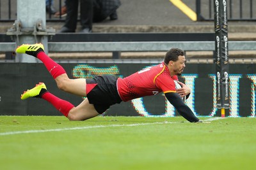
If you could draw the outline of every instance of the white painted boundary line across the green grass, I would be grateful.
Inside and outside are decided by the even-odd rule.
[[[220,117],[208,118],[207,122],[213,120],[219,120]],[[42,133],[42,132],[60,132],[60,131],[72,131],[72,130],[81,130],[81,129],[92,129],[100,127],[129,127],[129,126],[140,126],[140,125],[154,125],[154,124],[177,124],[180,122],[154,122],[154,123],[145,123],[145,124],[128,124],[128,125],[94,125],[94,126],[84,126],[84,127],[70,127],[70,128],[61,128],[61,129],[46,129],[46,130],[31,130],[31,131],[14,131],[14,132],[1,132],[0,136],[7,136],[12,134],[31,134],[31,133]]]

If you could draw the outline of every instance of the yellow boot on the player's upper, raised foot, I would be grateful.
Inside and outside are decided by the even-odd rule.
[[[44,52],[44,45],[42,45],[41,43],[36,43],[33,45],[20,45],[17,47],[16,49],[17,53],[26,53],[28,55],[33,55],[34,57],[36,57],[36,55],[39,52]]]

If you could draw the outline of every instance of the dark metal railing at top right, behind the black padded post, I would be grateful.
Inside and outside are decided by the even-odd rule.
[[[222,0],[221,0],[222,1]],[[226,0],[228,20],[230,21],[255,21],[255,0]],[[196,0],[196,15],[198,21],[214,20],[215,0]]]

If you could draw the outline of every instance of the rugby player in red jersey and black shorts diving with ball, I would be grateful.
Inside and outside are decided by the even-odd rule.
[[[54,62],[44,52],[44,45],[21,45],[17,53],[27,53],[41,60],[52,75],[60,90],[86,97],[81,104],[74,106],[68,101],[60,99],[47,91],[45,83],[38,83],[33,89],[25,91],[21,99],[39,97],[51,103],[69,120],[86,120],[104,113],[117,103],[130,101],[138,97],[154,96],[163,92],[168,101],[179,114],[189,122],[202,122],[195,117],[193,111],[182,101],[181,97],[189,96],[190,89],[180,83],[181,89],[175,88],[173,80],[178,80],[186,67],[184,51],[172,48],[164,56],[162,63],[138,71],[125,78],[116,78],[112,75],[95,76],[95,78],[70,79],[60,64]]]

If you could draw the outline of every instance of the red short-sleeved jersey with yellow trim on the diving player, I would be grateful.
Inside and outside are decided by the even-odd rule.
[[[168,67],[162,62],[125,78],[118,78],[117,90],[122,101],[130,101],[159,92],[176,92],[173,80],[178,80],[178,77],[171,76]]]

